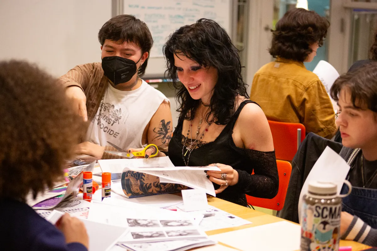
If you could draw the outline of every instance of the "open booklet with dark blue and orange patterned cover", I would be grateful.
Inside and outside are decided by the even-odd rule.
[[[216,196],[204,171],[216,166],[174,166],[169,157],[150,159],[98,160],[103,172],[121,173],[121,187],[127,198],[174,193],[187,187]],[[115,184],[116,185],[116,184]],[[115,193],[119,194],[119,189]]]

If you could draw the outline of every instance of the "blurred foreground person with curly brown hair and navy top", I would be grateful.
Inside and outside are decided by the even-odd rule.
[[[0,249],[86,251],[83,222],[68,214],[58,227],[26,204],[64,178],[64,164],[84,133],[63,87],[26,62],[0,62]]]

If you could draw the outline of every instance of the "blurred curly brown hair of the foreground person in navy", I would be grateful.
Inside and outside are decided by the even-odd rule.
[[[27,62],[0,62],[0,198],[35,198],[63,178],[84,127],[55,82]]]

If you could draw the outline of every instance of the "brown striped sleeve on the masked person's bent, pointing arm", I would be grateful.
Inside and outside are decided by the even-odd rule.
[[[64,87],[78,86],[84,89],[89,85],[90,77],[94,74],[94,63],[78,65],[75,68],[69,70],[66,74],[58,79],[58,83]]]

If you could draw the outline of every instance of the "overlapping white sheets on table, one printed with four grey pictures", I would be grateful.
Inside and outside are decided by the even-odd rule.
[[[107,198],[102,203],[93,201],[88,220],[126,227],[127,232],[117,243],[132,250],[144,250],[141,248],[145,245],[156,248],[154,250],[164,245],[170,248],[172,240],[176,241],[173,242],[175,248],[167,250],[187,250],[216,243],[208,238],[190,215],[127,201]]]

